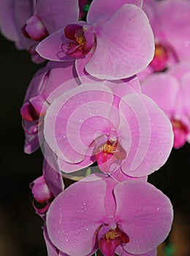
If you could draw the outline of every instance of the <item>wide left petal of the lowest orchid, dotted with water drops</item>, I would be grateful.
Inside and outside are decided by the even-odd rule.
[[[47,212],[47,233],[61,252],[72,256],[91,252],[96,230],[107,219],[105,192],[102,180],[78,181],[53,200]]]

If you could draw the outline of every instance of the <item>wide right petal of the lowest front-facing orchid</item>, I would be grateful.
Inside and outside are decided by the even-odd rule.
[[[123,181],[116,185],[115,221],[129,236],[126,252],[143,254],[167,238],[172,225],[172,204],[159,189],[144,181]]]

